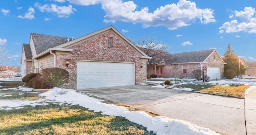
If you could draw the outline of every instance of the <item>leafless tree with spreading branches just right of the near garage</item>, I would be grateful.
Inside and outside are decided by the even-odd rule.
[[[147,78],[150,79],[150,67],[155,64],[166,64],[169,62],[170,53],[164,51],[168,48],[163,44],[156,42],[154,38],[141,38],[133,42],[146,55],[152,57],[147,63]]]

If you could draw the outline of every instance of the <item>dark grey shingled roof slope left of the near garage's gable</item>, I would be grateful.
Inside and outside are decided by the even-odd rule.
[[[60,44],[68,42],[68,38],[59,36],[50,36],[44,34],[31,33],[34,46],[36,49],[36,55],[41,54],[49,48],[53,48]],[[72,40],[72,38],[69,38]]]

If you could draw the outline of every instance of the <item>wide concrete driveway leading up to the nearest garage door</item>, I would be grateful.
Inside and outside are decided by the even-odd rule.
[[[94,88],[80,92],[188,121],[224,134],[246,135],[245,99],[156,88],[149,85]],[[255,103],[254,101],[255,99],[250,100],[251,103],[248,104],[250,109],[248,117],[252,117],[250,119],[252,124],[249,125],[251,131],[248,130],[250,133],[247,135],[255,133],[256,110],[254,110],[255,104],[252,104]]]

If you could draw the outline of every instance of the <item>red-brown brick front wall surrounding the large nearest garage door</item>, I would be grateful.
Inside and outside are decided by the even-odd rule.
[[[108,37],[112,38],[112,47],[108,47]],[[64,87],[77,88],[77,60],[133,62],[135,64],[135,84],[146,83],[146,60],[140,59],[140,54],[111,31],[72,46],[70,49],[73,51],[68,55],[56,55],[56,67],[64,68],[70,73],[69,82],[64,84]],[[70,60],[68,67],[65,64],[67,59]],[[142,68],[140,68],[141,64],[144,65]]]

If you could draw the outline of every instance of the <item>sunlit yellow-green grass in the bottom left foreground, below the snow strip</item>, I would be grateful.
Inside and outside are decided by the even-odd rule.
[[[0,133],[154,135],[124,117],[101,115],[78,105],[49,105],[0,110]]]

